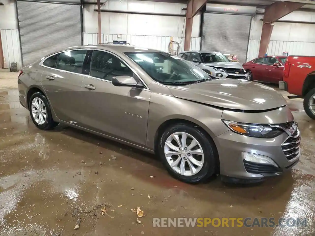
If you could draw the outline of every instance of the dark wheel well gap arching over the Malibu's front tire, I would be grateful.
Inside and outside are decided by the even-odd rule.
[[[198,129],[202,130],[203,133],[207,136],[207,138],[209,140],[212,140],[213,139],[211,138],[211,136],[209,135],[209,133],[207,131],[205,131],[201,126],[197,125],[196,123],[192,122],[192,121],[187,121],[187,120],[184,120],[184,119],[171,119],[171,120],[168,120],[168,121],[164,121],[157,129],[157,132],[155,133],[155,137],[154,137],[154,151],[155,153],[158,155],[158,142],[159,140],[161,139],[162,135],[163,135],[163,132],[164,130],[171,126],[171,125],[175,125],[175,124],[186,124],[186,125],[190,125],[190,126],[193,126],[193,127],[198,127]],[[217,170],[216,172],[219,173],[220,171],[220,160],[219,160],[219,154],[218,154],[218,150],[215,146],[215,143],[213,142],[214,144],[214,148],[215,150],[213,150],[215,153],[215,158],[217,159]]]

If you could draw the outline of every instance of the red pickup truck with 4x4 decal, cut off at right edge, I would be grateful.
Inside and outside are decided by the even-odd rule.
[[[315,119],[315,56],[288,56],[284,65],[283,81],[279,88],[304,98],[306,114]]]

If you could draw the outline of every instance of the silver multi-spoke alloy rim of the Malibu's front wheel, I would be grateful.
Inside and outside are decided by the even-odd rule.
[[[203,167],[200,143],[185,132],[175,132],[166,139],[164,155],[172,169],[183,176],[195,175]]]

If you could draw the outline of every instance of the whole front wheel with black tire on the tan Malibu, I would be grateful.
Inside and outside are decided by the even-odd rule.
[[[193,174],[193,172],[191,171],[190,165],[192,164],[192,162],[190,161],[191,157],[193,157],[193,159],[196,161],[200,161],[202,162],[202,156],[201,155],[196,155],[196,154],[189,154],[189,150],[187,150],[187,153],[185,154],[185,152],[181,153],[181,160],[185,159],[185,155],[186,155],[186,159],[183,160],[184,164],[184,175],[179,173],[178,169],[180,169],[181,166],[181,161],[178,162],[178,166],[176,166],[175,164],[175,160],[177,160],[177,158],[180,158],[179,155],[172,155],[169,157],[166,157],[165,155],[165,149],[169,149],[169,151],[173,151],[172,149],[169,148],[168,145],[166,145],[166,141],[169,142],[170,139],[172,139],[175,142],[175,146],[177,144],[177,142],[175,141],[175,139],[172,138],[172,135],[176,133],[186,133],[187,136],[187,146],[189,148],[189,144],[191,144],[191,139],[195,138],[195,140],[198,142],[198,144],[192,148],[192,150],[195,149],[199,149],[198,146],[201,147],[200,150],[203,151],[203,165],[201,166],[197,166],[197,165],[193,165],[196,170],[195,174]],[[178,135],[180,143],[181,143],[181,135]],[[172,141],[172,143],[174,143]],[[171,143],[171,144],[172,144]],[[177,145],[177,147],[179,147],[179,145]],[[184,150],[182,150],[184,151]],[[184,154],[183,154],[184,153]],[[198,183],[201,182],[203,180],[207,180],[209,177],[211,177],[212,175],[214,175],[215,171],[217,170],[218,167],[218,154],[217,154],[217,150],[215,147],[215,143],[213,142],[213,140],[209,137],[208,135],[200,128],[198,127],[193,127],[184,123],[181,124],[176,124],[173,126],[169,126],[165,132],[163,133],[160,141],[159,141],[159,145],[158,145],[158,154],[163,162],[163,165],[165,166],[165,168],[167,169],[167,171],[176,179],[183,181],[185,183]],[[189,157],[188,157],[189,155]],[[196,159],[195,159],[196,158]],[[190,162],[190,164],[188,163]],[[174,163],[175,164],[175,168],[177,168],[177,171],[170,166],[169,163]],[[190,173],[190,175],[189,175]]]

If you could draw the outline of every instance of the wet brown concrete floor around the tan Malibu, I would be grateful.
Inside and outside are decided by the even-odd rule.
[[[315,121],[304,113],[301,99],[288,103],[302,135],[301,160],[292,172],[255,185],[226,185],[218,177],[189,185],[170,177],[154,155],[63,125],[37,129],[17,89],[0,87],[0,235],[315,235]],[[144,211],[141,223],[130,210],[138,206]],[[307,222],[157,228],[153,217]]]

